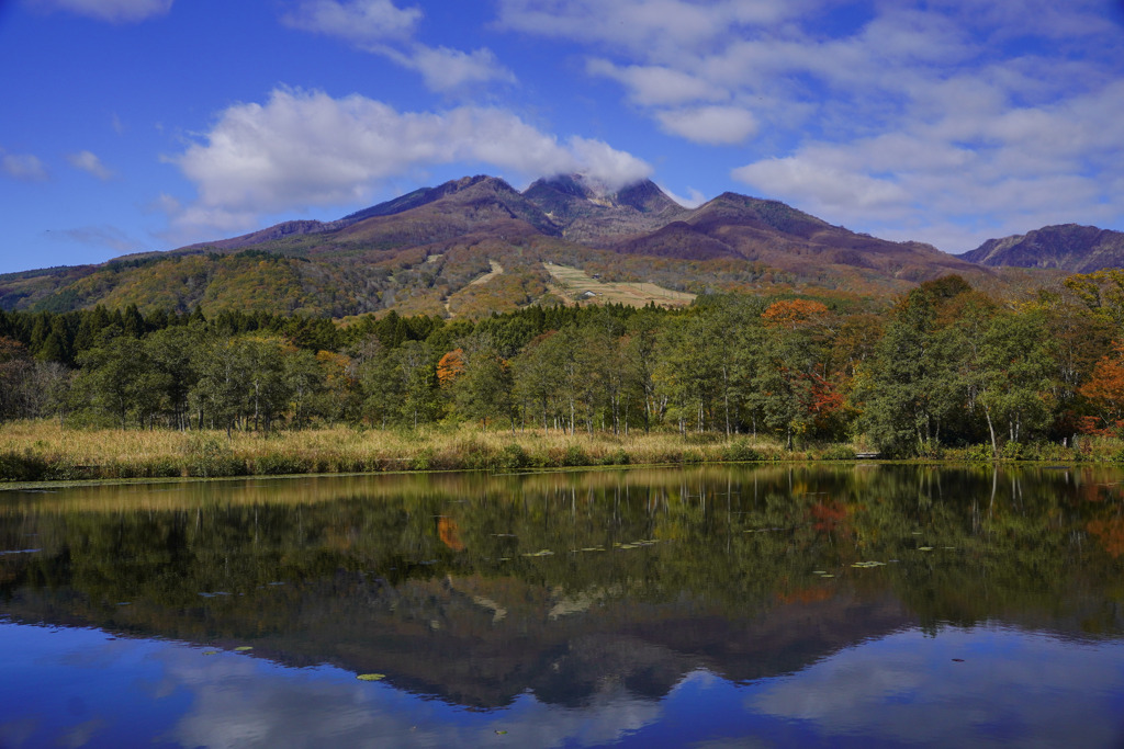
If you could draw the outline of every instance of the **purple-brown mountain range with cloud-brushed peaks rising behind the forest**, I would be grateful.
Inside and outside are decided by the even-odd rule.
[[[519,192],[480,175],[335,221],[287,221],[167,253],[2,275],[0,308],[133,303],[205,312],[475,316],[574,302],[572,290],[544,263],[695,293],[886,298],[949,273],[1001,285],[1003,272],[992,268],[1003,265],[1121,265],[1122,238],[1091,227],[1046,227],[989,240],[958,257],[736,193],[688,209],[651,181],[608,190],[580,175],[559,175]]]

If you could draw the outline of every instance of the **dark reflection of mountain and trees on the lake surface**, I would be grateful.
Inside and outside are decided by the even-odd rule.
[[[700,668],[774,676],[918,622],[1120,634],[1121,561],[1098,536],[1117,478],[773,467],[11,494],[0,544],[40,550],[0,556],[0,614],[248,642],[478,707],[661,697]]]

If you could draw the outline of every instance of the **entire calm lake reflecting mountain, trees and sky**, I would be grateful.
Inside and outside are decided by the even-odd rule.
[[[1121,747],[1122,493],[873,464],[0,492],[0,746]]]

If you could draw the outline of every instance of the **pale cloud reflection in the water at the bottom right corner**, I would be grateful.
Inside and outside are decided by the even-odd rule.
[[[963,663],[953,661],[962,658]],[[1118,747],[1124,646],[1014,630],[894,634],[843,650],[747,701],[752,712],[921,745]],[[1116,697],[1113,696],[1116,693]],[[955,720],[950,720],[950,716]]]

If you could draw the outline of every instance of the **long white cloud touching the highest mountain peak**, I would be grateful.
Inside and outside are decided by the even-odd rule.
[[[288,89],[264,104],[228,108],[170,161],[199,193],[174,211],[176,223],[224,230],[248,228],[262,213],[363,201],[386,180],[456,162],[519,177],[580,172],[615,188],[652,171],[600,140],[560,141],[501,109],[400,112],[357,94]]]

